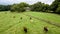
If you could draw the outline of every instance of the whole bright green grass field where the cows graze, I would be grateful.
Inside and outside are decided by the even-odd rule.
[[[48,27],[48,32],[44,31],[44,26]],[[23,27],[27,27],[27,33]],[[0,12],[0,34],[60,34],[60,15],[43,12]]]

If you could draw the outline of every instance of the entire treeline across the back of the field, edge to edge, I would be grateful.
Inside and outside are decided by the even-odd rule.
[[[29,5],[25,2],[13,5],[0,5],[0,10],[11,12],[24,12],[26,10],[36,11],[36,12],[51,12],[60,14],[60,0],[55,0],[51,5],[37,2],[35,4]]]

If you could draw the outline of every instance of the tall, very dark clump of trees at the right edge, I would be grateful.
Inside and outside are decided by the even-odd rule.
[[[53,13],[59,13],[59,14],[60,14],[60,0],[55,0],[55,1],[50,5],[50,10],[52,10]]]

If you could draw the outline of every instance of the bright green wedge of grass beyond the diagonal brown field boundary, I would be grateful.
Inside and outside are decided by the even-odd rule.
[[[25,14],[49,20],[55,23],[60,23],[60,15],[52,13],[43,13],[43,12],[25,12]]]

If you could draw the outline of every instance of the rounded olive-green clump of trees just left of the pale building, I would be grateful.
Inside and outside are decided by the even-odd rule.
[[[14,12],[14,11],[16,11],[16,12],[24,12],[25,11],[25,7],[28,7],[28,6],[29,6],[29,4],[24,3],[24,2],[19,3],[19,4],[14,4],[11,7],[11,11],[12,12]]]

